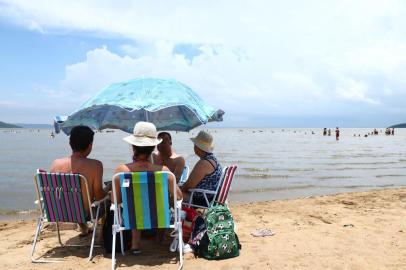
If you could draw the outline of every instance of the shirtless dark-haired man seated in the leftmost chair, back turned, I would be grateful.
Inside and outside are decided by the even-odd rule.
[[[92,151],[94,132],[86,126],[76,126],[72,129],[69,144],[72,155],[56,159],[51,165],[51,172],[79,173],[86,177],[90,201],[100,200],[105,196],[102,177],[103,164],[95,159],[87,158]],[[86,213],[89,213],[86,190],[82,190],[83,203]],[[79,224],[81,235],[87,234],[86,224]]]

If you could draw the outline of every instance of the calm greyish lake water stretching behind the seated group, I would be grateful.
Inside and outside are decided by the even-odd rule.
[[[314,131],[315,134],[311,134]],[[406,130],[395,136],[354,137],[371,129],[341,129],[340,141],[321,129],[211,129],[222,165],[236,164],[231,201],[258,201],[406,186]],[[0,216],[36,209],[33,176],[70,154],[68,137],[51,130],[0,129]],[[174,148],[192,168],[190,133],[172,133]],[[104,181],[131,160],[121,131],[97,133],[92,158],[104,164]]]

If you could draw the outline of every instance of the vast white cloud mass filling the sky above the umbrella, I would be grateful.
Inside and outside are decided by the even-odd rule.
[[[111,82],[155,76],[227,112],[299,116],[354,103],[403,110],[405,11],[400,0],[0,0],[0,17],[27,29],[126,39],[120,55],[95,48],[66,67],[59,91],[78,103]],[[180,43],[201,54],[174,55]]]

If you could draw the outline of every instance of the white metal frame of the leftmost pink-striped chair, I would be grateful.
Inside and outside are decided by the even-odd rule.
[[[60,173],[48,173],[48,172],[43,172],[40,170],[37,170],[37,173],[34,176],[34,184],[35,184],[35,189],[36,189],[36,193],[37,193],[37,197],[38,197],[38,206],[39,206],[39,210],[40,210],[40,216],[38,217],[37,220],[37,228],[35,231],[35,237],[32,243],[32,248],[31,248],[31,253],[30,253],[30,258],[31,258],[31,262],[33,263],[53,263],[53,262],[62,262],[61,260],[45,260],[45,259],[35,259],[34,258],[34,252],[35,252],[35,248],[37,245],[37,240],[38,237],[41,233],[41,229],[43,228],[43,225],[45,222],[49,222],[47,220],[47,216],[45,213],[45,209],[44,209],[44,205],[46,202],[46,200],[44,198],[41,197],[41,193],[40,193],[40,188],[38,185],[38,176],[41,173],[47,173],[50,175],[58,175]],[[81,174],[76,174],[76,173],[65,173],[66,175],[79,175],[79,179],[81,182],[84,183],[84,185],[81,186],[81,188],[83,189],[83,187],[85,187],[86,189],[86,194],[87,194],[87,201],[88,201],[88,205],[89,205],[89,212],[90,212],[90,220],[87,220],[87,222],[91,222],[92,223],[92,228],[93,228],[93,233],[92,233],[92,240],[91,240],[91,244],[90,244],[90,251],[89,251],[89,257],[88,257],[88,261],[90,261],[92,259],[92,255],[93,255],[93,248],[95,247],[94,245],[94,240],[96,237],[96,229],[97,229],[97,221],[99,218],[99,212],[100,212],[100,206],[103,203],[105,206],[105,202],[108,199],[108,195],[106,195],[103,199],[99,200],[99,201],[94,201],[93,203],[91,203],[90,201],[90,194],[89,194],[89,188],[88,188],[88,184],[87,184],[87,179],[86,177],[84,177]],[[60,190],[61,191],[61,190]],[[60,192],[59,191],[59,192]],[[83,202],[82,202],[83,204]],[[94,216],[92,209],[96,208],[96,216]],[[56,230],[57,230],[57,235],[58,235],[58,242],[62,247],[83,247],[83,246],[87,246],[87,245],[66,245],[62,243],[61,240],[61,234],[60,234],[60,230],[59,230],[59,223],[58,221],[55,222],[56,223]],[[73,222],[68,222],[68,221],[63,221],[62,223],[73,223]],[[97,246],[98,247],[98,246]]]

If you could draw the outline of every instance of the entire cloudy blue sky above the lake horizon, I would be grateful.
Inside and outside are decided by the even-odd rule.
[[[0,121],[159,77],[225,127],[385,127],[406,122],[405,52],[401,0],[0,0]]]

